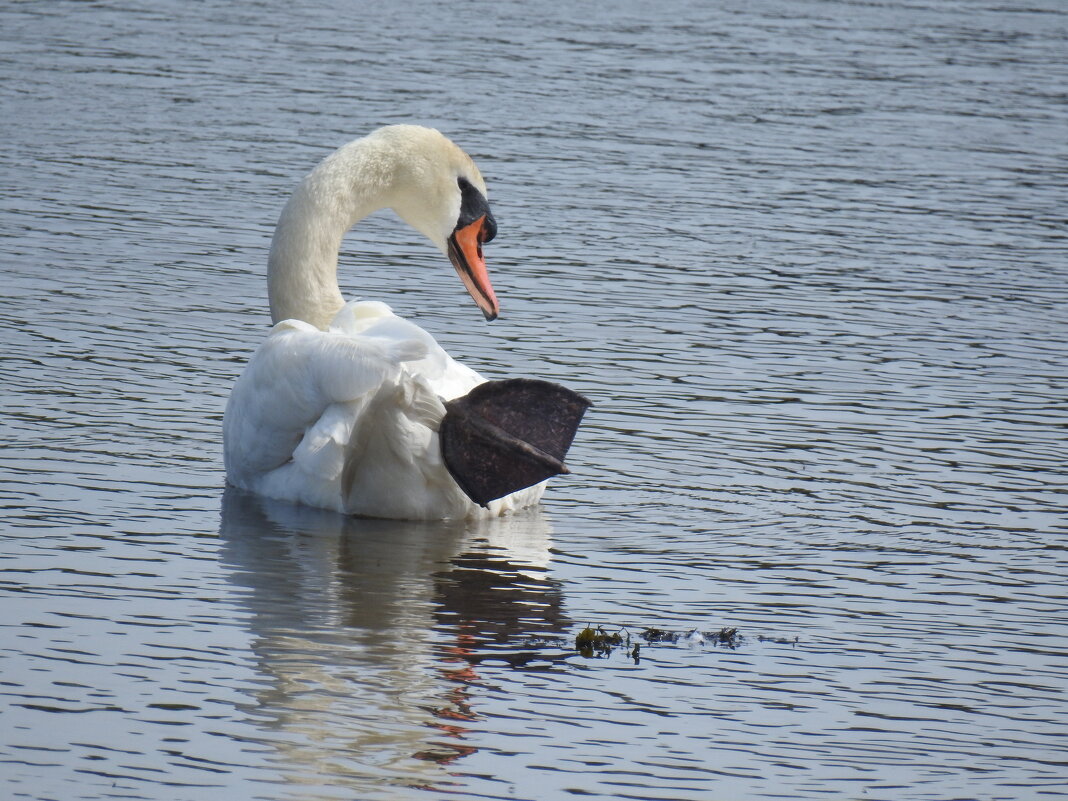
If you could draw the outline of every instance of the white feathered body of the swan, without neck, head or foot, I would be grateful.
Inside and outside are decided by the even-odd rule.
[[[442,397],[484,379],[388,308],[355,323],[321,331],[287,320],[271,330],[226,405],[227,480],[348,514],[477,512],[442,461],[438,427]],[[538,485],[493,501],[487,514],[536,503],[540,493]]]

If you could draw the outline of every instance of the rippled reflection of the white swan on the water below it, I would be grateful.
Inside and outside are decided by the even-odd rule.
[[[319,797],[309,780],[352,798],[444,781],[433,763],[469,750],[478,713],[477,676],[458,668],[569,627],[538,511],[368,520],[231,488],[220,536],[261,677],[250,713],[301,799]]]

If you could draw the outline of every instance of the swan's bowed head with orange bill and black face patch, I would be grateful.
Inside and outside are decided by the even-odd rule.
[[[389,205],[449,256],[486,319],[496,319],[500,305],[482,246],[497,235],[497,221],[474,161],[433,128],[391,125],[367,140],[393,157]]]

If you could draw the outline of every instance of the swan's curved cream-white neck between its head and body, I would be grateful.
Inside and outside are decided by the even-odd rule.
[[[326,329],[344,305],[337,251],[352,225],[390,205],[391,166],[351,145],[323,161],[293,193],[274,229],[267,295],[274,323],[302,319]]]

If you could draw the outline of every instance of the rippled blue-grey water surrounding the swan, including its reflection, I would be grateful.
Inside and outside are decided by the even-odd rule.
[[[1058,0],[27,2],[0,41],[6,798],[1068,795]],[[273,220],[389,122],[480,162],[503,316],[388,215],[343,288],[596,403],[539,511],[224,491]]]

